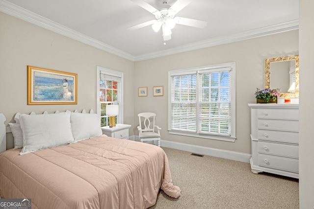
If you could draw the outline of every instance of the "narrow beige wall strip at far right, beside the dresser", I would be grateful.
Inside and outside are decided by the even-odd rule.
[[[314,1],[300,0],[300,209],[314,208]]]

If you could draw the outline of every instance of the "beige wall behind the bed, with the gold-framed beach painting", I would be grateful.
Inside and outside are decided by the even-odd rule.
[[[78,74],[77,105],[27,105],[26,66]],[[93,109],[97,66],[124,72],[124,122],[133,123],[134,63],[0,12],[0,112],[6,124],[16,112]]]

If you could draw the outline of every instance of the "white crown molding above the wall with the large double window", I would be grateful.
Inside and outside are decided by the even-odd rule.
[[[276,33],[282,33],[282,32],[286,32],[290,30],[297,30],[297,29],[299,29],[299,20],[294,20],[294,21],[289,21],[286,23],[279,23],[279,24],[274,24],[274,25],[270,25],[266,27],[253,29],[253,30],[248,30],[248,31],[232,34],[229,36],[221,36],[221,37],[212,38],[212,39],[201,41],[201,42],[195,42],[188,45],[178,46],[178,47],[171,48],[168,50],[138,55],[135,57],[135,61],[142,61],[142,60],[147,60],[147,59],[152,59],[152,58],[157,58],[157,57],[162,57],[162,56],[168,56],[168,55],[177,54],[181,52],[207,48],[210,46],[218,46],[218,45],[258,38],[262,36],[267,36],[267,35],[272,35]]]

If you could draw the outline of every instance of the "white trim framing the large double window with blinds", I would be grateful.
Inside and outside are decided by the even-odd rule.
[[[214,69],[218,69],[218,68],[231,68],[231,71],[230,71],[230,75],[231,75],[231,78],[230,78],[231,79],[230,80],[231,81],[231,85],[230,85],[230,88],[231,88],[230,89],[230,91],[231,91],[231,134],[230,134],[230,136],[218,136],[218,135],[212,135],[212,134],[191,133],[191,132],[171,130],[171,76],[186,75],[186,74],[197,74],[198,71],[214,70]],[[196,68],[189,68],[189,69],[181,69],[181,70],[169,70],[168,71],[168,87],[169,87],[168,88],[168,132],[169,132],[169,134],[234,142],[236,139],[236,133],[235,133],[235,131],[236,131],[235,130],[236,129],[235,75],[236,75],[235,74],[235,62],[210,65],[210,66],[203,66],[203,67],[196,67]],[[197,77],[197,79],[199,79],[199,78]]]

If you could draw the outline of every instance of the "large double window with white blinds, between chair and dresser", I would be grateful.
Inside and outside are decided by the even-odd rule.
[[[235,140],[235,63],[169,71],[169,133]]]

